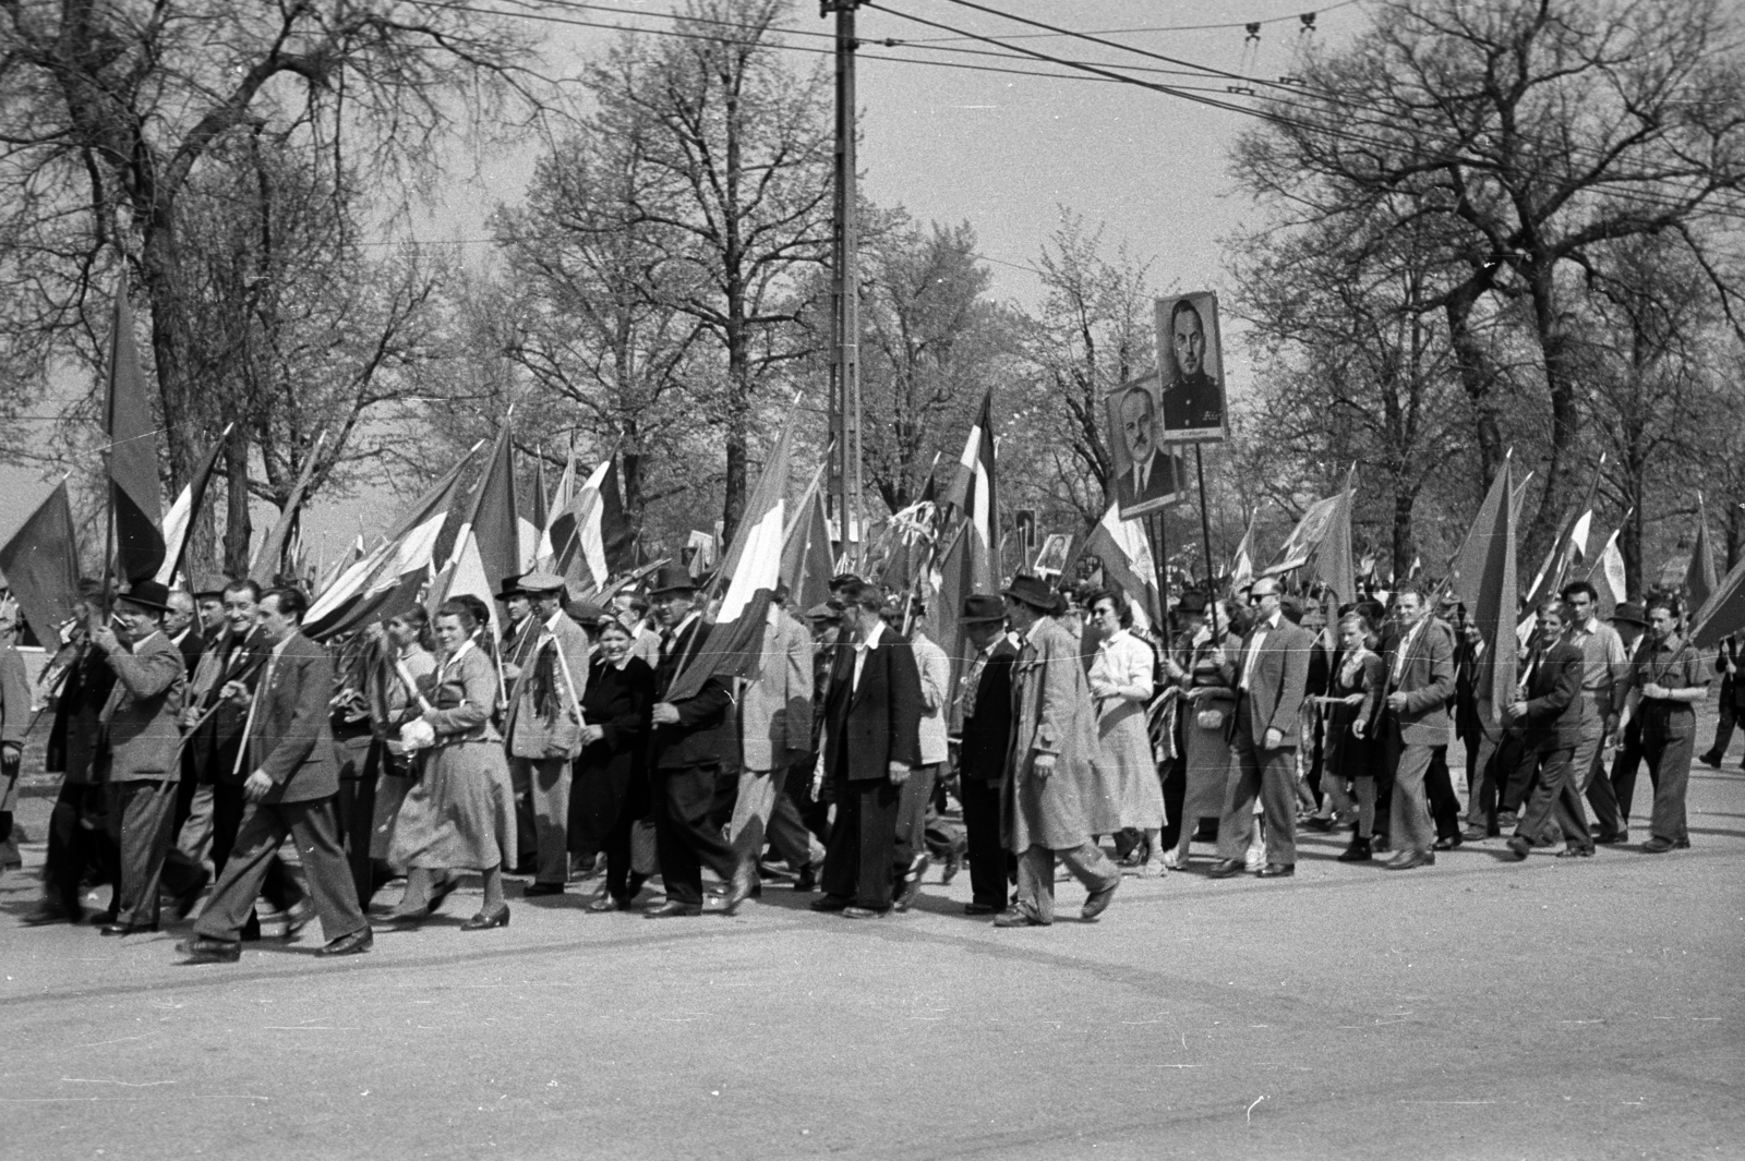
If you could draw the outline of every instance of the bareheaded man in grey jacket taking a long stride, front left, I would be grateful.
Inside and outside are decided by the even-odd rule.
[[[213,887],[194,938],[176,945],[188,962],[236,962],[262,880],[290,835],[302,856],[309,894],[326,938],[323,955],[356,955],[373,941],[346,863],[339,821],[339,762],[328,699],[333,664],[302,635],[309,601],[297,589],[269,589],[260,600],[260,628],[270,654],[253,694],[229,682],[220,696],[248,703],[248,764],[243,783],[250,811],[236,849]]]

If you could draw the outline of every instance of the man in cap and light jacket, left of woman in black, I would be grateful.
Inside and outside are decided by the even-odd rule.
[[[503,668],[510,682],[503,734],[510,748],[515,814],[530,821],[522,830],[532,830],[537,851],[534,882],[525,894],[564,894],[569,880],[571,762],[581,753],[588,631],[564,612],[564,577],[529,572],[515,586],[530,601],[530,615],[524,615],[518,626],[515,661]]]

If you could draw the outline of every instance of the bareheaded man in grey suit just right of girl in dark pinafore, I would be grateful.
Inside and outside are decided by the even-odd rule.
[[[1412,870],[1436,861],[1431,849],[1431,804],[1426,777],[1448,751],[1448,699],[1454,697],[1454,631],[1431,614],[1429,601],[1413,587],[1394,596],[1398,629],[1382,650],[1387,666],[1387,697],[1382,739],[1393,772],[1387,840],[1396,851],[1387,870]],[[1443,762],[1436,786],[1436,825],[1448,845],[1461,842],[1461,804],[1448,784]]]

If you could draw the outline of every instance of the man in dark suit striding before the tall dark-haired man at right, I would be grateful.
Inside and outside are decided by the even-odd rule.
[[[1537,772],[1522,811],[1520,830],[1509,837],[1509,854],[1525,859],[1532,837],[1544,832],[1551,814],[1564,832],[1558,858],[1593,854],[1588,812],[1581,805],[1581,779],[1574,769],[1581,746],[1581,648],[1564,640],[1572,617],[1564,603],[1548,600],[1537,610],[1537,648],[1527,662],[1522,694],[1509,704],[1509,718],[1527,725]]]

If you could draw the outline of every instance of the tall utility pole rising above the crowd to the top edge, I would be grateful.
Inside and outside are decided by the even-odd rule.
[[[831,253],[831,499],[843,551],[855,570],[866,544],[866,478],[860,465],[860,230],[855,204],[855,9],[860,0],[818,0],[836,14],[836,207]]]

